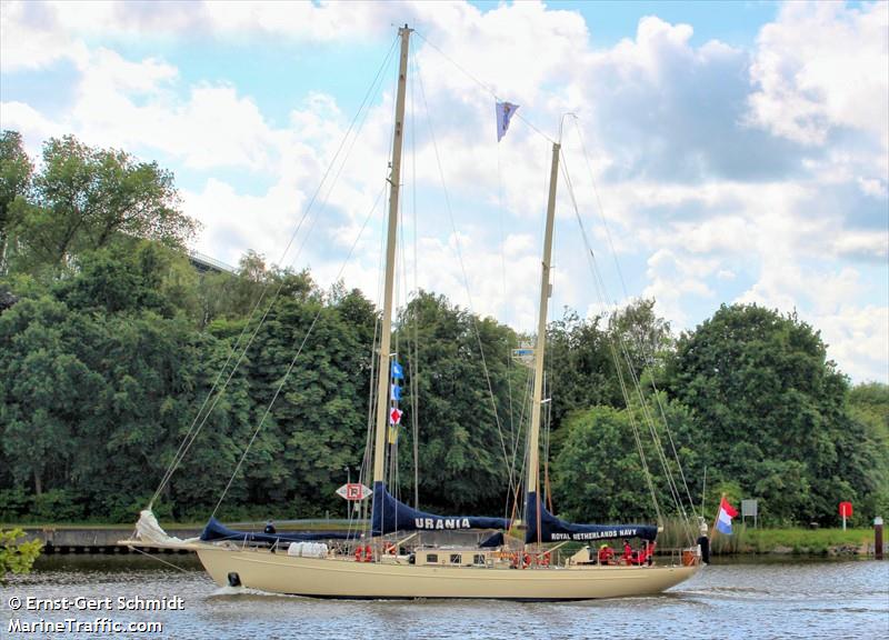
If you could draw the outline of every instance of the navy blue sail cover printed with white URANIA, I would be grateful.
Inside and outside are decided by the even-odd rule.
[[[442,531],[458,529],[508,529],[506,518],[468,516],[436,516],[418,511],[399,502],[386,490],[383,482],[373,483],[373,511],[371,534],[384,536],[393,531]]]

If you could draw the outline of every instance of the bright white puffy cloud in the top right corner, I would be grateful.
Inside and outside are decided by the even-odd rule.
[[[889,148],[889,3],[788,2],[760,32],[751,121],[805,144],[835,128]],[[882,176],[886,176],[885,167]]]

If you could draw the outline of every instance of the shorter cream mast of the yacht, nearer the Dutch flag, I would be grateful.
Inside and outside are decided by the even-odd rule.
[[[552,168],[549,176],[549,200],[547,201],[547,229],[543,234],[543,263],[540,274],[540,314],[537,321],[537,347],[535,349],[535,397],[531,411],[531,432],[528,438],[528,486],[529,497],[540,503],[540,409],[543,397],[543,350],[547,346],[547,307],[550,296],[549,272],[552,259],[552,223],[556,218],[556,183],[559,177],[558,142],[552,143]],[[540,509],[535,509],[540,518]],[[537,530],[540,531],[539,522]]]

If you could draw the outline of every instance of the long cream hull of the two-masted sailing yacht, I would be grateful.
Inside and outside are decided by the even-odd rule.
[[[363,563],[350,559],[297,558],[264,550],[198,546],[220,586],[237,573],[243,587],[316,598],[485,598],[591,600],[647,596],[688,580],[698,567],[571,567],[492,569]]]

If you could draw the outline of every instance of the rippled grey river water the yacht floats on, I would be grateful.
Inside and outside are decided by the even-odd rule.
[[[159,558],[184,570],[148,557],[41,558],[33,573],[13,577],[0,588],[0,638],[889,638],[889,562],[873,560],[717,560],[662,596],[518,603],[271,596],[221,589],[192,557]],[[122,598],[123,607],[131,607],[136,598],[177,596],[181,610],[132,611],[118,601]],[[69,609],[28,611],[29,597],[68,598]],[[78,597],[93,599],[101,608],[78,610],[84,603]],[[10,600],[17,599],[22,608],[13,611]],[[63,628],[48,632],[41,620]],[[102,624],[111,622],[161,623],[162,631],[103,632]],[[39,630],[26,632],[22,623],[37,623]],[[81,629],[94,624],[99,632],[71,631],[77,623]]]

